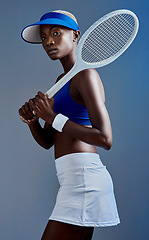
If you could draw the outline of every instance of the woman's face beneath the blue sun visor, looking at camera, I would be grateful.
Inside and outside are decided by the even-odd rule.
[[[52,60],[62,59],[72,53],[75,46],[74,31],[62,26],[41,25],[42,46]]]

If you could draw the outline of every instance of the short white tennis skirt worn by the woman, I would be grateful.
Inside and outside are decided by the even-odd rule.
[[[55,164],[60,188],[50,220],[91,227],[120,223],[112,179],[98,154],[68,154]]]

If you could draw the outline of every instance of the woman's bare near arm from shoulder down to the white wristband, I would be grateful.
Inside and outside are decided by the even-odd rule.
[[[93,69],[85,70],[80,73],[76,83],[87,107],[92,128],[67,121],[63,132],[88,144],[109,150],[112,146],[112,130],[100,77]]]

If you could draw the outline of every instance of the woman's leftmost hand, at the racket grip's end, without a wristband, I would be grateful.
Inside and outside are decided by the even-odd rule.
[[[33,114],[33,109],[31,108],[29,102],[26,102],[20,109],[19,115],[23,118],[22,121],[25,123],[32,124],[38,120],[38,116]]]

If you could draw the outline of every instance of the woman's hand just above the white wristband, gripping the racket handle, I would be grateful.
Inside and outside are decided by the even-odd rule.
[[[54,98],[49,99],[42,92],[38,92],[35,98],[29,100],[29,106],[33,109],[33,114],[42,118],[45,122],[52,124],[55,116]]]

